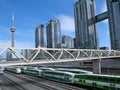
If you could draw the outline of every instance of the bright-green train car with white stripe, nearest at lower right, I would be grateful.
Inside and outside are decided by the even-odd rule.
[[[103,90],[120,90],[120,76],[112,75],[75,75],[74,83]]]

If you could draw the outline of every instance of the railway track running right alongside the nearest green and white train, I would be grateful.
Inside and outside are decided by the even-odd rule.
[[[38,85],[40,87],[46,87],[46,90],[87,90],[87,89],[83,89],[80,87],[75,87],[75,86],[71,86],[68,84],[59,83],[59,82],[46,80],[46,79],[38,78],[38,77],[33,77],[29,75],[24,75],[24,74],[19,75],[19,74],[14,74],[11,72],[9,72],[9,74],[12,74],[15,77],[18,77],[20,79],[24,79],[28,82],[31,82],[32,84],[34,83],[35,85]]]

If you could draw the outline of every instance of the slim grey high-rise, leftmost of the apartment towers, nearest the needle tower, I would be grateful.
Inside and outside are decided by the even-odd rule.
[[[41,24],[35,30],[35,47],[44,47],[44,26]]]

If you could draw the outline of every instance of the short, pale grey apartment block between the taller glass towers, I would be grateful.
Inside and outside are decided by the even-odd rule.
[[[62,44],[64,44],[64,48],[74,48],[74,39],[69,36],[63,36]]]

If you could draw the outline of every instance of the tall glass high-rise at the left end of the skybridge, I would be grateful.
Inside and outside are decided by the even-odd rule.
[[[74,4],[76,48],[97,49],[98,34],[96,24],[88,24],[95,17],[94,0],[79,0]],[[91,20],[92,21],[92,20]]]

